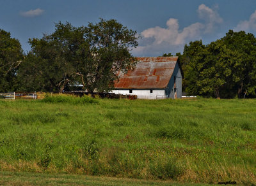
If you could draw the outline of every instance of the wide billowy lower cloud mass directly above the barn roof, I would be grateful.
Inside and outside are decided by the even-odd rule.
[[[161,55],[164,52],[177,52],[189,39],[199,39],[204,29],[204,25],[197,22],[179,31],[179,22],[175,18],[170,18],[166,25],[167,28],[154,27],[141,32],[144,41],[140,43],[144,43],[144,46],[137,47],[134,55]]]

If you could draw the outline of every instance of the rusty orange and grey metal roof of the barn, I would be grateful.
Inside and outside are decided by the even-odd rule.
[[[164,89],[172,77],[178,57],[137,57],[134,71],[120,73],[115,89]]]

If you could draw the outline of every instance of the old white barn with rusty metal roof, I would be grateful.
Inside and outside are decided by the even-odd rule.
[[[137,95],[138,99],[181,98],[183,73],[178,57],[137,57],[138,64],[120,73],[115,94]]]

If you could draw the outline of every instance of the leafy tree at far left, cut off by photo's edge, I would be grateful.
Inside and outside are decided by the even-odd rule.
[[[22,57],[19,40],[0,29],[0,92],[17,89],[17,69]]]

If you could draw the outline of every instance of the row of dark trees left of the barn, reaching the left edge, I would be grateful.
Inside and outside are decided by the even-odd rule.
[[[52,34],[29,39],[31,51],[22,52],[10,32],[0,31],[0,92],[62,92],[78,89],[104,92],[113,89],[117,72],[134,68],[131,48],[137,33],[116,20],[74,27],[59,22]]]

